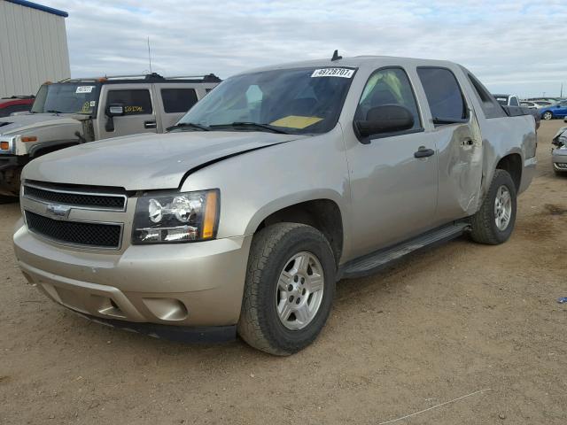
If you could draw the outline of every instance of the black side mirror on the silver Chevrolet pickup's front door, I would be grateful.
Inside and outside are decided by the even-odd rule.
[[[377,106],[367,112],[366,120],[354,121],[354,131],[360,135],[359,139],[368,139],[370,135],[404,131],[412,127],[414,127],[413,114],[408,108],[398,104]]]

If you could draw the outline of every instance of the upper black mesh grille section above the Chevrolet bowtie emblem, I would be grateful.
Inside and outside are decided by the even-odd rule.
[[[91,209],[123,210],[126,197],[123,195],[98,195],[83,192],[43,189],[36,186],[24,186],[24,196],[43,202],[73,205]]]

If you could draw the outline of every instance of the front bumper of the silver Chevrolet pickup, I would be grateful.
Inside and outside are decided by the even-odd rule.
[[[13,241],[27,280],[78,313],[110,321],[226,327],[240,315],[252,236],[94,252],[50,243],[19,220]]]

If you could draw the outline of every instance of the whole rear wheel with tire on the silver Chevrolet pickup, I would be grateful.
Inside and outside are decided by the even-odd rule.
[[[472,240],[490,245],[506,242],[514,230],[516,208],[516,185],[507,171],[497,169],[480,210],[470,220]]]

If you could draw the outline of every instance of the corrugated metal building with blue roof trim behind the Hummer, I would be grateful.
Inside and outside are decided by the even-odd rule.
[[[45,81],[71,76],[66,12],[0,0],[0,97],[35,95]]]

